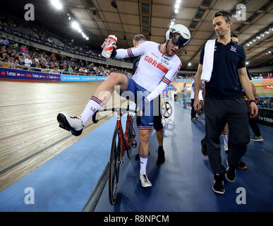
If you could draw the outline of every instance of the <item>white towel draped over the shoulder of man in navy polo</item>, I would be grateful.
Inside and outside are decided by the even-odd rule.
[[[212,77],[215,42],[216,40],[207,40],[205,44],[205,53],[201,74],[202,81],[209,82],[210,78]]]

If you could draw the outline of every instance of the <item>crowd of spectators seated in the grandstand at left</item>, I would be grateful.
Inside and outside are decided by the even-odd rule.
[[[109,76],[111,72],[120,71],[131,76],[130,71],[119,69],[101,64],[95,64],[82,59],[66,57],[52,52],[45,52],[40,49],[28,47],[24,44],[19,45],[17,42],[9,41],[0,37],[0,63],[3,67],[16,67],[18,69],[35,68],[39,71],[51,73],[71,73],[86,75]],[[5,64],[9,63],[9,64]],[[34,70],[35,70],[34,69]]]

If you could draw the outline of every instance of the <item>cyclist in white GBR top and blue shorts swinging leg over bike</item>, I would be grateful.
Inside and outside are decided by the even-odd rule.
[[[109,78],[97,88],[79,117],[69,117],[66,113],[60,113],[57,117],[59,124],[63,129],[79,136],[87,120],[107,103],[115,86],[119,86],[119,94],[123,97],[129,97],[131,100],[133,94],[133,100],[138,107],[150,106],[149,112],[145,112],[146,107],[140,109],[142,117],[141,124],[138,125],[140,139],[138,152],[140,153],[140,182],[143,187],[152,186],[146,174],[150,131],[153,126],[152,100],[162,93],[176,76],[181,67],[181,60],[176,53],[185,47],[189,40],[188,28],[176,24],[166,32],[164,44],[146,41],[129,49],[114,49],[111,56],[116,59],[141,56],[138,70],[133,78],[128,78],[122,73],[111,73]],[[105,44],[106,42],[102,44],[102,48]],[[139,99],[137,93],[142,93],[144,96],[141,95],[140,101],[137,100]]]

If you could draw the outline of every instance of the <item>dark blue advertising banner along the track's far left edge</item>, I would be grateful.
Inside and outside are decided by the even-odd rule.
[[[61,76],[56,73],[42,73],[38,71],[24,71],[0,67],[0,79],[26,81],[61,81]]]

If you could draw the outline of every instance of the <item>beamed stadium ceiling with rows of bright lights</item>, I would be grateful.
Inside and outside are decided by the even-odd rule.
[[[176,0],[59,1],[63,4],[61,11],[54,10],[49,0],[25,3],[34,4],[35,18],[44,20],[61,34],[72,32],[67,16],[70,13],[95,47],[100,47],[104,37],[116,35],[118,47],[128,48],[133,45],[133,37],[138,33],[144,34],[147,40],[163,43],[171,18],[175,16],[175,23],[186,25],[191,33],[188,46],[179,54],[183,62],[181,69],[189,71],[197,69],[202,45],[208,39],[217,38],[212,26],[214,13],[221,10],[235,13],[238,4],[245,4],[245,19],[233,17],[231,31],[238,35],[239,44],[245,48],[250,69],[272,65],[273,30],[269,29],[273,29],[273,0],[181,0],[177,14],[174,13]],[[13,7],[24,4],[24,1],[9,2],[13,2]],[[75,35],[78,35],[77,32]],[[188,66],[189,62],[191,66]]]

